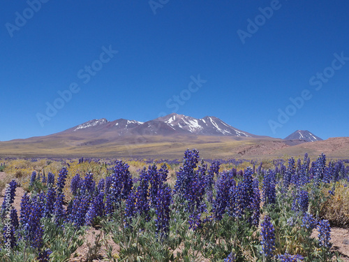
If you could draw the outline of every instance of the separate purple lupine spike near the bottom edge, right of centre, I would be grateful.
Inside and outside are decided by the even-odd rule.
[[[270,221],[270,217],[268,215],[265,216],[264,221],[261,224],[262,231],[260,235],[262,236],[262,241],[260,245],[262,245],[262,254],[267,258],[272,258],[274,249],[275,249],[275,234],[274,234],[274,226]]]

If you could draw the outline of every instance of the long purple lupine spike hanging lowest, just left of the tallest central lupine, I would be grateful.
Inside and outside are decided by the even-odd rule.
[[[168,186],[163,185],[158,189],[156,194],[156,235],[158,238],[168,237],[170,231],[170,203],[171,203],[171,189]]]

